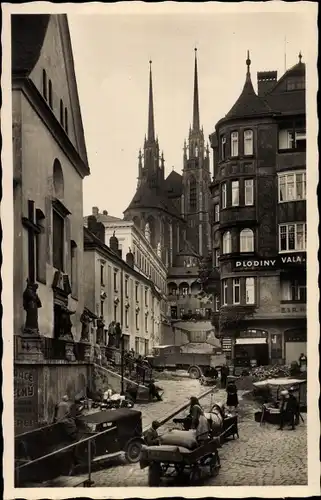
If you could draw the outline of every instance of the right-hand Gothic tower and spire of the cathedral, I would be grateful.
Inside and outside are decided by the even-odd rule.
[[[200,127],[197,49],[195,49],[193,126],[190,127],[188,142],[184,142],[182,216],[187,221],[186,239],[194,250],[207,255],[211,248],[209,224],[209,146],[205,146],[203,128]]]

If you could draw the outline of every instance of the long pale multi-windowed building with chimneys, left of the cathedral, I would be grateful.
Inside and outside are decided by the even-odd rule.
[[[125,350],[149,354],[159,343],[164,295],[157,291],[145,274],[135,269],[134,255],[124,256],[118,239],[111,236],[105,245],[105,227],[94,216],[84,228],[85,305],[92,317],[105,324],[104,343],[108,344],[108,326],[119,322]],[[96,339],[93,339],[93,343]]]

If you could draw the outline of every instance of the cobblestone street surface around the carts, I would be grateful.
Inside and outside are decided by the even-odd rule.
[[[152,420],[166,417],[175,408],[188,401],[191,395],[205,392],[197,380],[180,378],[162,380],[164,401],[136,408],[143,412],[143,427]],[[211,398],[225,401],[226,394],[218,390],[214,396],[202,399],[205,409]],[[240,438],[229,440],[219,450],[221,469],[214,478],[204,479],[204,486],[264,486],[307,484],[307,436],[306,424],[300,424],[295,431],[278,431],[277,426],[254,421],[255,405],[242,398],[239,391],[239,434]],[[167,424],[170,427],[172,424]],[[166,426],[162,427],[162,431]],[[104,470],[93,473],[95,486],[148,486],[148,469],[139,464],[126,464],[122,460]]]

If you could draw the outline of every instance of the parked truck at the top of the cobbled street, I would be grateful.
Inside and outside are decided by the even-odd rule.
[[[147,359],[154,370],[187,370],[191,378],[211,377],[226,363],[222,349],[207,342],[159,345]]]

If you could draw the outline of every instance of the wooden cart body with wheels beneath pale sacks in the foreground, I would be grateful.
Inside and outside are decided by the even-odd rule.
[[[195,485],[206,473],[214,476],[219,469],[219,447],[219,437],[199,445],[194,450],[173,445],[143,446],[140,467],[149,468],[149,486],[160,486],[162,478],[175,478],[177,482],[184,484],[186,476],[189,483]]]

